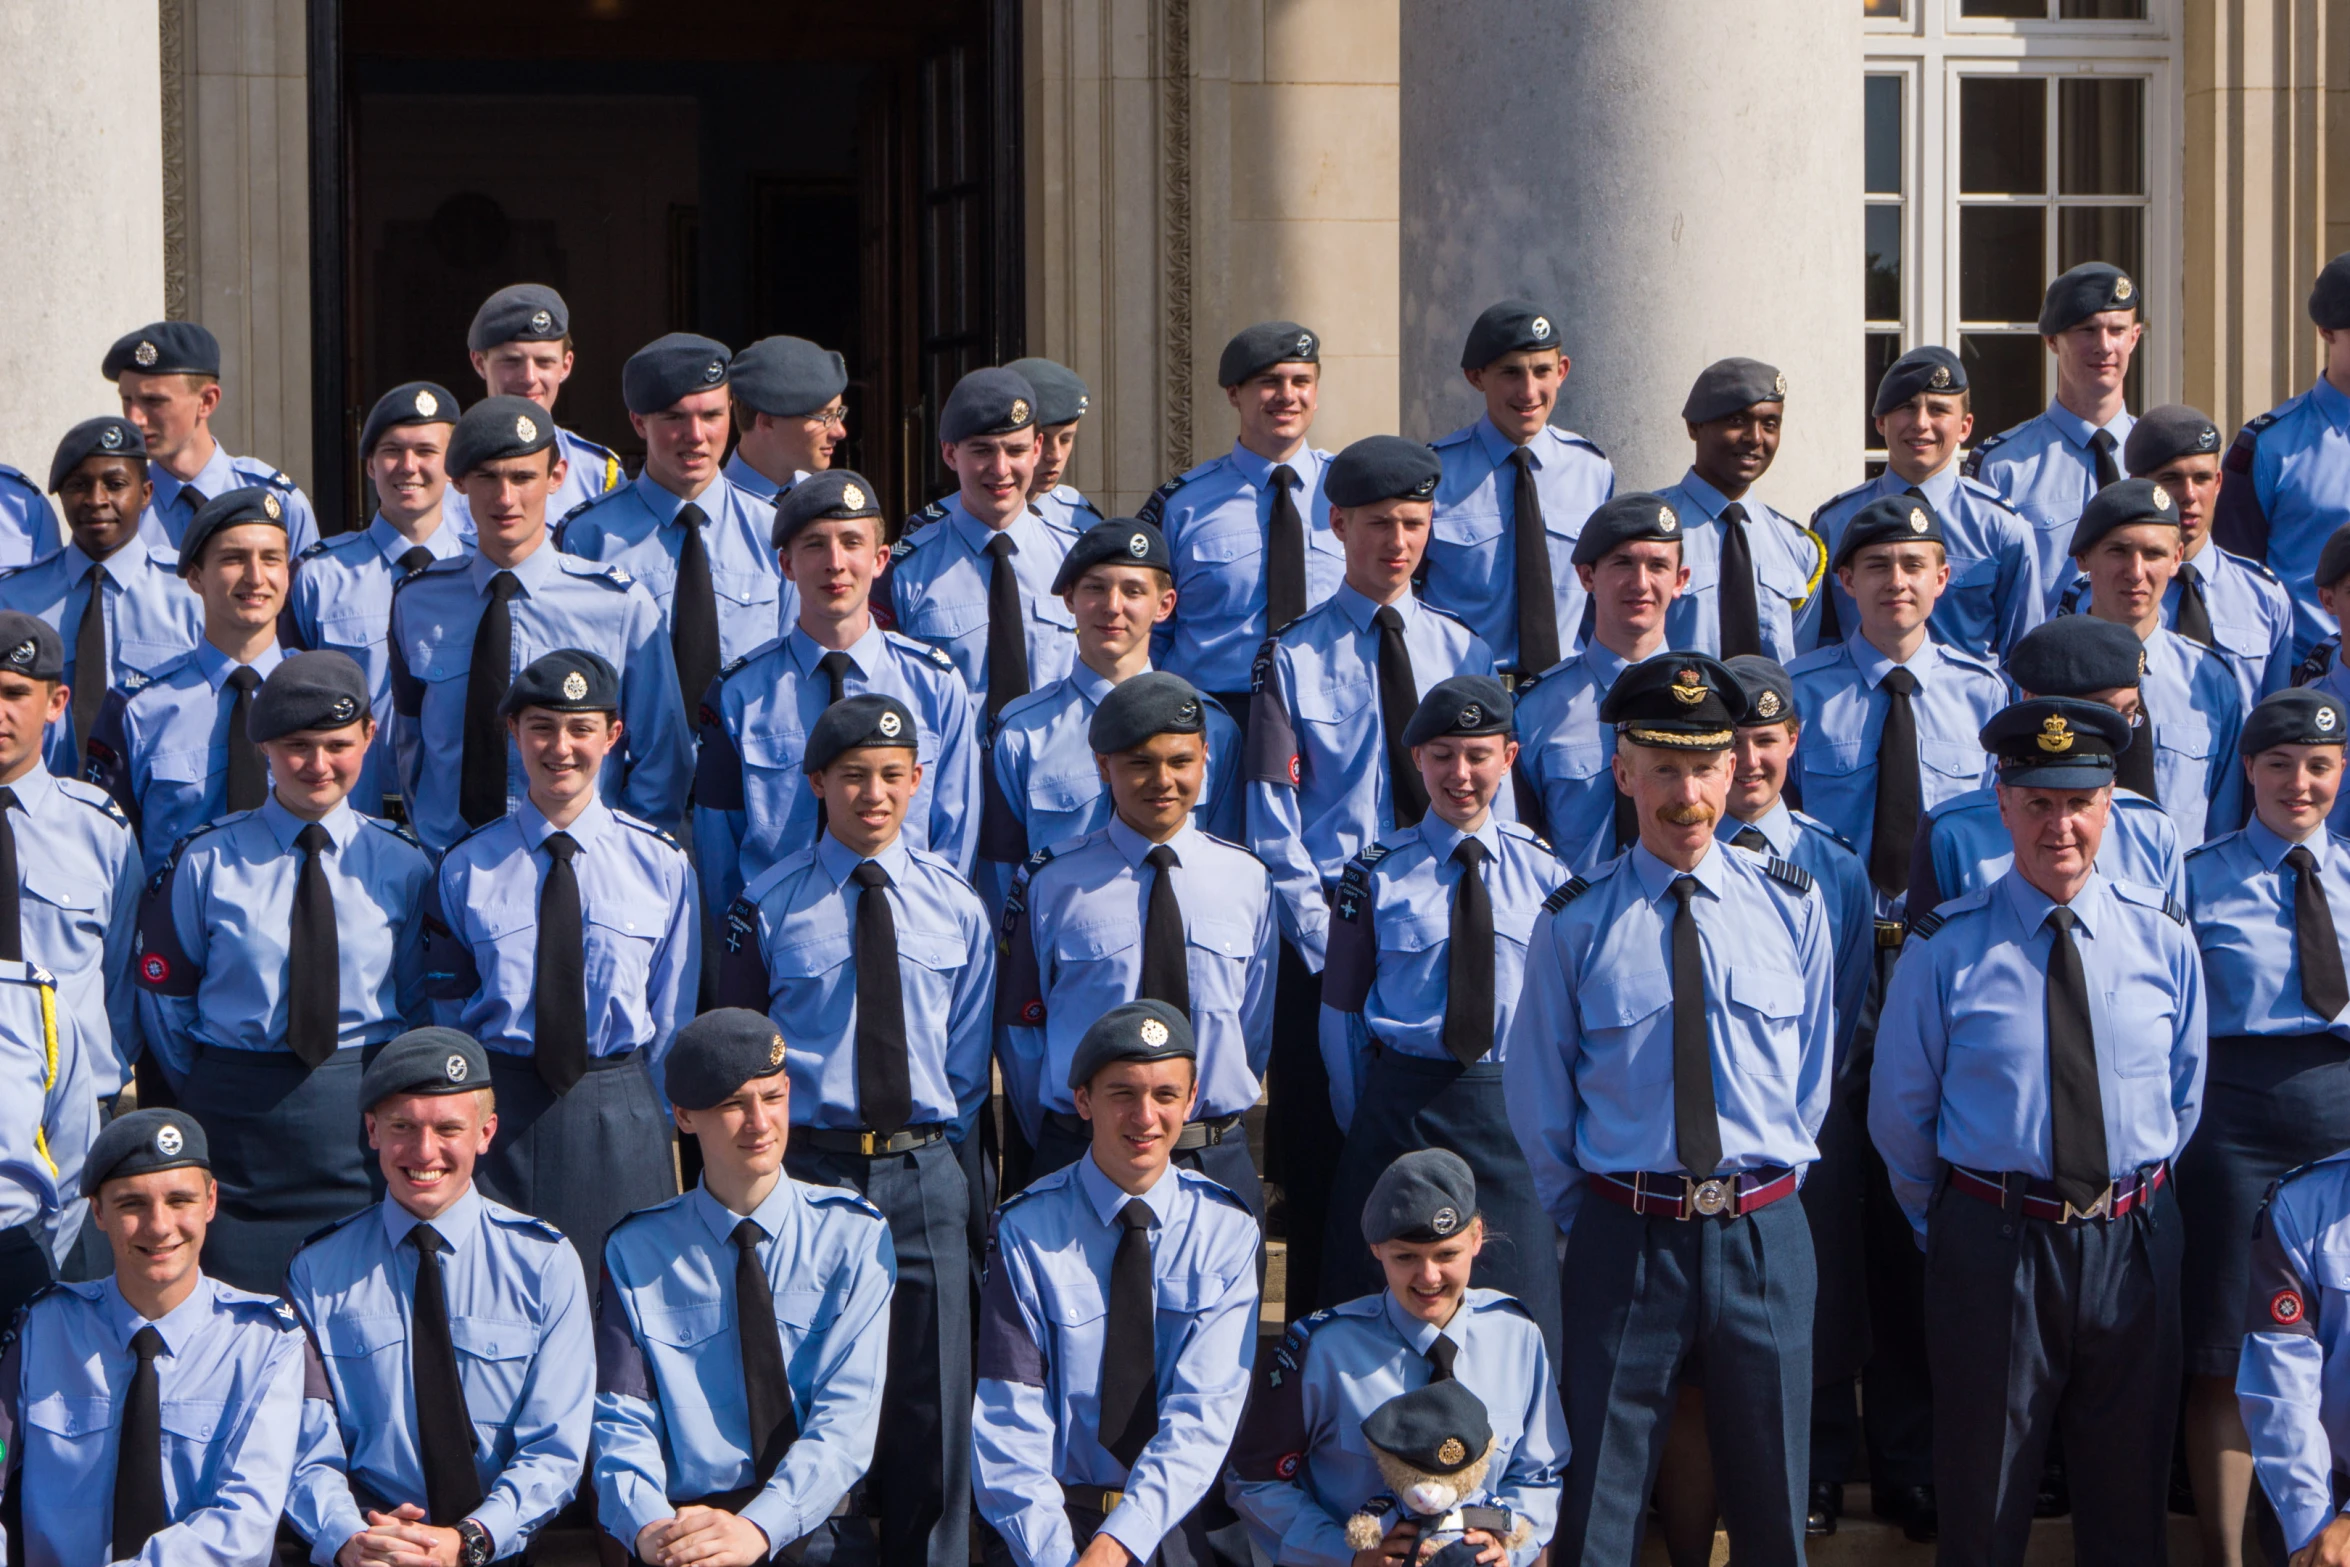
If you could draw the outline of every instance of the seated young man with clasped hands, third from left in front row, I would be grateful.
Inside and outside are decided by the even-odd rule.
[[[752,1567],[787,1546],[808,1567],[865,1567],[888,1224],[855,1191],[785,1172],[792,1081],[759,1013],[679,1029],[670,1092],[703,1177],[604,1245],[597,1525],[646,1567]]]

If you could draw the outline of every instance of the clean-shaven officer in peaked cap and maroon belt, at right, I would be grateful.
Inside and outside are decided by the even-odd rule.
[[[1983,726],[2016,865],[1911,921],[1868,1132],[1925,1247],[1943,1560],[2019,1562],[2061,1435],[2073,1527],[2157,1562],[2178,1412],[2178,1215],[2204,977],[2160,888],[2096,846],[2129,724],[2040,698]]]

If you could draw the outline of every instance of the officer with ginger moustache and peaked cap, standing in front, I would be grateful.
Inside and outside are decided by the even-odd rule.
[[[1560,1536],[1629,1562],[1683,1372],[1704,1367],[1739,1562],[1800,1562],[1812,1421],[1812,1231],[1795,1196],[1835,1069],[1828,904],[1716,841],[1748,693],[1664,653],[1607,693],[1640,841],[1546,902],[1502,1085],[1535,1193],[1567,1233]],[[1598,1198],[1598,1201],[1586,1201]]]

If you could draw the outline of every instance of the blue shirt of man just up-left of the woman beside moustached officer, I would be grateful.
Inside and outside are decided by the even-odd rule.
[[[1410,592],[1394,608],[1415,691],[1452,674],[1492,674],[1492,648],[1466,625]],[[1396,825],[1379,719],[1377,611],[1342,585],[1328,604],[1300,616],[1257,655],[1257,695],[1248,707],[1248,848],[1274,872],[1281,933],[1316,970],[1330,928],[1323,890],[1347,860]],[[1509,794],[1492,808],[1504,820],[1518,815]]]

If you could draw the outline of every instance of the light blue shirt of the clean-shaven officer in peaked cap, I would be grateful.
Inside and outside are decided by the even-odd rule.
[[[1911,921],[1878,1015],[1868,1135],[1920,1238],[1936,1161],[2052,1175],[2054,907],[2007,872]],[[2115,1177],[2176,1158],[2202,1109],[2204,980],[2176,907],[2157,888],[2106,881],[2094,869],[2070,902]]]

